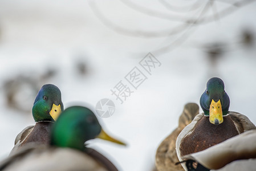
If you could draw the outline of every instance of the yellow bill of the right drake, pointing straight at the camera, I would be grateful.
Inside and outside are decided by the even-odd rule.
[[[210,109],[209,109],[209,120],[210,120],[210,123],[214,125],[223,123],[221,100],[217,102],[212,100],[212,103],[210,104]]]

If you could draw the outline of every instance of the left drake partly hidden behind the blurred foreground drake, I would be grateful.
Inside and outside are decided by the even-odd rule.
[[[63,103],[59,88],[53,84],[45,84],[39,90],[32,108],[35,125],[26,127],[17,135],[10,154],[26,143],[47,144],[50,140],[50,125],[62,111]]]

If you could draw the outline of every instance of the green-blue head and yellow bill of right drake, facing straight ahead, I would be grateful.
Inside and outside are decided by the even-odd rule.
[[[229,96],[225,92],[224,82],[220,78],[211,78],[200,98],[200,105],[210,123],[218,125],[229,112]]]

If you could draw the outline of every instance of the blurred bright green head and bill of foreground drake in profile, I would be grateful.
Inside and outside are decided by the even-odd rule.
[[[108,136],[94,112],[86,107],[74,106],[65,109],[51,129],[51,145],[55,146],[83,150],[84,143],[95,138],[125,145]]]

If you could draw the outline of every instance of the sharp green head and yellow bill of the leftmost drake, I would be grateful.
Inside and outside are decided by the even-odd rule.
[[[58,87],[45,84],[38,92],[32,108],[36,122],[55,121],[63,111],[62,96]]]

